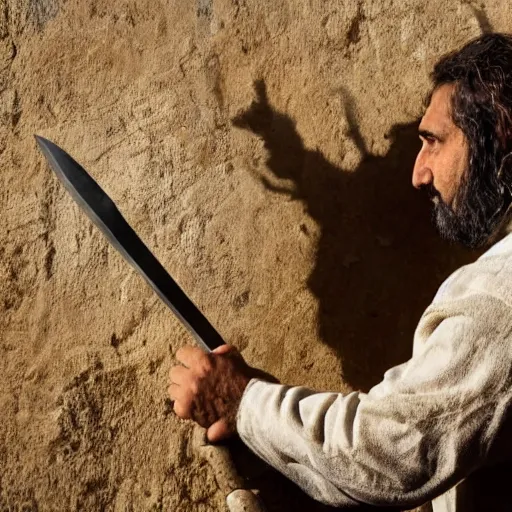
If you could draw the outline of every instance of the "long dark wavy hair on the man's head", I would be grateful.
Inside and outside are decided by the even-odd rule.
[[[512,191],[512,36],[486,34],[442,57],[434,90],[453,84],[452,118],[469,148],[458,192],[460,241],[483,245],[505,221]]]

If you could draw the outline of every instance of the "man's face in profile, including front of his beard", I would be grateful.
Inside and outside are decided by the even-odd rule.
[[[464,133],[452,120],[453,89],[452,84],[445,84],[432,94],[419,126],[423,145],[414,164],[412,184],[425,189],[433,201],[434,222],[441,236],[462,242],[467,212],[460,203],[465,199],[462,185],[467,179],[469,150]]]

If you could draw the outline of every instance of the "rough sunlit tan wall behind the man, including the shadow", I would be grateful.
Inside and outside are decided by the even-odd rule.
[[[432,63],[490,29],[512,4],[0,0],[0,509],[225,510],[165,401],[189,335],[34,133],[251,363],[368,389],[474,257],[437,240],[410,172]],[[271,511],[324,510],[251,478]]]

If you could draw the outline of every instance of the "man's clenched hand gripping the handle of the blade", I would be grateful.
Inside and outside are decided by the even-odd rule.
[[[251,368],[231,345],[222,345],[210,354],[196,347],[183,347],[176,358],[181,365],[171,368],[169,386],[176,415],[207,428],[211,442],[233,436],[247,384],[253,377],[266,375]]]

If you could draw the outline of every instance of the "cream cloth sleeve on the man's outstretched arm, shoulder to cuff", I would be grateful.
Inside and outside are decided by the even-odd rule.
[[[430,306],[416,332],[421,349],[368,393],[253,379],[240,437],[318,501],[425,503],[487,462],[511,400],[510,319],[509,306],[485,294]]]

